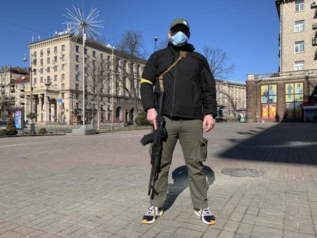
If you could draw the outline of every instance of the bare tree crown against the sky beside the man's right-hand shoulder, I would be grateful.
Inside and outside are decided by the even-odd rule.
[[[235,70],[235,64],[228,66],[230,58],[223,49],[217,47],[212,48],[205,45],[203,51],[215,78],[226,79]]]

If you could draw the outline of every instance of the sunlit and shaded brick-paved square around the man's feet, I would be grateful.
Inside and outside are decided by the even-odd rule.
[[[194,215],[177,144],[166,212],[149,205],[147,130],[0,139],[0,237],[316,237],[316,124],[216,124],[204,163],[217,223]],[[263,171],[233,177],[225,168]]]

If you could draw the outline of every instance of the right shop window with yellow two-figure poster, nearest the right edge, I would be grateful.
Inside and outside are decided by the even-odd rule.
[[[287,118],[302,118],[303,82],[285,84],[285,114]]]

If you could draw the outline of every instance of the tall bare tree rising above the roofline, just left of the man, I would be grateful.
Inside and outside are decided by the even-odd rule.
[[[118,43],[116,47],[125,54],[124,57],[126,57],[129,64],[128,67],[126,67],[125,64],[116,64],[116,67],[120,68],[122,72],[122,77],[115,77],[115,79],[119,81],[119,83],[116,83],[118,83],[118,86],[123,88],[123,91],[128,95],[134,104],[136,114],[138,114],[137,88],[140,86],[140,78],[138,78],[135,65],[138,58],[144,58],[146,56],[143,45],[143,35],[140,31],[135,29],[128,30],[123,34],[121,42]]]

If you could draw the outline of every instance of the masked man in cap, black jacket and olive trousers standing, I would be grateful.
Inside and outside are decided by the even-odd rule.
[[[168,172],[177,140],[180,140],[188,169],[188,182],[195,214],[206,224],[215,224],[207,201],[206,177],[202,162],[207,157],[207,140],[203,128],[209,132],[217,114],[215,80],[206,58],[194,52],[187,43],[191,33],[188,21],[177,18],[172,21],[165,49],[154,52],[148,59],[141,79],[142,104],[147,111],[147,120],[156,130],[157,112],[154,108],[153,86],[159,77],[179,58],[181,51],[187,54],[163,78],[165,91],[163,114],[166,121],[167,140],[163,142],[161,171],[155,183],[153,199],[143,217],[145,224],[154,223],[163,215],[167,198]]]

